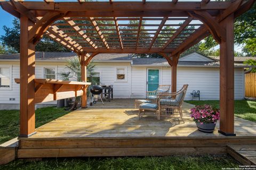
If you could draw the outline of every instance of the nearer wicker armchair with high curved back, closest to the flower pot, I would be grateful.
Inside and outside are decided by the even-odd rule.
[[[158,120],[160,120],[160,116],[166,116],[178,118],[178,120],[181,118],[183,121],[181,104],[185,98],[187,88],[188,84],[185,84],[177,92],[158,95]]]

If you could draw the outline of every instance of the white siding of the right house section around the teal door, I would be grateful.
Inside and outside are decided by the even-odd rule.
[[[157,67],[159,68],[159,67]],[[146,89],[146,71],[147,67],[133,66],[132,74],[137,74],[137,70],[140,70],[141,74],[138,74],[135,80],[140,80],[140,84],[132,84],[132,89],[138,89],[137,91],[144,91]],[[162,84],[171,84],[171,67],[162,67]],[[145,72],[145,73],[143,73]],[[145,80],[144,80],[145,79]],[[143,81],[144,80],[144,81]],[[143,82],[144,83],[143,83]],[[177,69],[177,90],[181,89],[183,84],[189,84],[185,99],[191,100],[190,92],[193,90],[200,90],[201,100],[218,100],[219,99],[219,84],[220,73],[218,68],[209,67],[178,67]],[[139,90],[140,89],[140,90]],[[134,91],[134,94],[136,94]],[[146,93],[140,92],[140,96],[134,95],[132,97],[145,98]],[[235,99],[244,98],[244,71],[243,68],[235,69]]]

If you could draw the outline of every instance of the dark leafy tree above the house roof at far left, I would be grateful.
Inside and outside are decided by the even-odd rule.
[[[3,45],[9,47],[11,53],[19,53],[20,51],[20,21],[19,19],[13,20],[13,27],[9,28],[4,26],[3,30],[5,35],[0,37]],[[36,51],[39,52],[70,52],[69,49],[56,43],[51,38],[43,36],[41,41],[36,45]]]

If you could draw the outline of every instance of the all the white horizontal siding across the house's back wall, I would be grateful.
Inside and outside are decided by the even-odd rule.
[[[146,98],[147,91],[147,69],[159,69],[160,84],[171,84],[171,67],[169,66],[138,66],[131,65],[130,62],[104,63],[95,62],[94,72],[100,73],[100,83],[114,86],[114,98]],[[61,80],[61,72],[64,72],[66,63],[57,62],[36,62],[36,78],[44,78],[44,67],[54,68],[56,79]],[[1,62],[0,66],[10,66],[11,88],[0,89],[0,109],[5,106],[12,108],[7,104],[19,105],[20,89],[19,84],[15,83],[14,78],[19,78],[19,62]],[[125,68],[126,80],[116,80],[116,69]],[[200,90],[201,100],[218,100],[219,99],[219,69],[217,67],[182,67],[178,66],[177,70],[177,89],[183,84],[188,83],[186,100],[192,99],[190,92]],[[10,100],[15,98],[15,100]],[[243,68],[235,68],[235,99],[244,98],[244,71]],[[51,101],[44,104],[56,104]],[[19,108],[19,107],[17,107]]]

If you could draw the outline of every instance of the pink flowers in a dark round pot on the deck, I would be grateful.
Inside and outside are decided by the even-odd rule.
[[[211,105],[196,106],[190,109],[190,116],[196,122],[199,131],[212,133],[220,119],[220,110]]]

